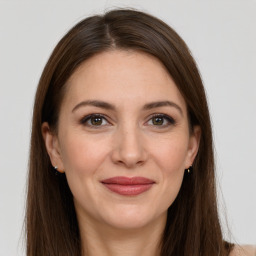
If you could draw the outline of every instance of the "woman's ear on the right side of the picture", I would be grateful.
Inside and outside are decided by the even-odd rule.
[[[193,131],[191,132],[190,138],[189,138],[186,168],[189,168],[191,165],[193,165],[194,159],[199,149],[200,138],[201,138],[201,128],[200,126],[194,126]]]

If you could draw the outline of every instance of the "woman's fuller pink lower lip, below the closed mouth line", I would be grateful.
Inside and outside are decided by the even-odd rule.
[[[107,183],[102,183],[102,184],[105,185],[109,190],[123,196],[136,196],[149,190],[153,186],[153,183],[137,184],[137,185],[120,185],[120,184],[107,184]]]

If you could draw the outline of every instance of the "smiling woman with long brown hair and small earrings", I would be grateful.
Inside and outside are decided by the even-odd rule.
[[[223,240],[196,64],[155,17],[114,10],[61,39],[30,152],[29,256],[247,255]]]

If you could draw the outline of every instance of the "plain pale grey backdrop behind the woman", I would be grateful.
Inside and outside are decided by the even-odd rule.
[[[255,1],[6,0],[0,1],[0,255],[25,255],[32,106],[42,69],[68,29],[114,7],[156,15],[191,49],[213,121],[221,218],[233,242],[256,244]]]

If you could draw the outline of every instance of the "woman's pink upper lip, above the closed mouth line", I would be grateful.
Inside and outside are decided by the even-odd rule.
[[[143,185],[155,183],[153,180],[145,177],[124,177],[117,176],[101,181],[105,184],[120,184],[120,185]]]

